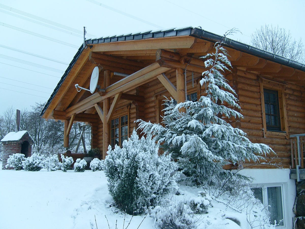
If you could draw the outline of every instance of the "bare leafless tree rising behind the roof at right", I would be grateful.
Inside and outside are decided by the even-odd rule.
[[[302,39],[292,39],[290,31],[284,28],[264,25],[251,35],[251,44],[259,49],[304,62]]]

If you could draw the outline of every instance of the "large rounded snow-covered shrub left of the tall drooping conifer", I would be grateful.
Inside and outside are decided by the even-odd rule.
[[[158,148],[151,136],[139,139],[135,130],[122,148],[108,147],[104,161],[108,189],[118,207],[128,214],[141,214],[176,190],[177,166],[170,155],[158,156]]]

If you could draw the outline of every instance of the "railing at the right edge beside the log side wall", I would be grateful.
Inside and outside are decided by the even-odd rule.
[[[292,169],[296,169],[296,179],[300,181],[299,169],[304,168],[305,158],[305,134],[293,134],[291,138],[291,162]]]

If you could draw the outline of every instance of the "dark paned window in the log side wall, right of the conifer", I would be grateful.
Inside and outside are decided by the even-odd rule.
[[[267,130],[281,131],[278,91],[264,88],[264,100]]]

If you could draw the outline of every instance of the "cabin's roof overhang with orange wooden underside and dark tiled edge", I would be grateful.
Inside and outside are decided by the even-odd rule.
[[[74,114],[75,121],[95,119],[95,113],[83,112],[107,96],[114,96],[118,91],[127,92],[128,89],[145,83],[171,68],[183,69],[188,66],[192,71],[202,72],[203,67],[196,58],[212,51],[214,43],[221,40],[222,37],[219,35],[192,27],[87,40],[87,48],[79,48],[41,111],[41,116],[45,119],[66,120]],[[303,64],[231,39],[226,39],[224,46],[230,53],[232,65],[241,70],[259,75],[272,75],[280,80],[297,81],[305,85]],[[169,54],[161,58],[160,49],[167,50]],[[113,85],[104,88],[106,94],[77,93],[74,85],[77,83],[88,87],[95,66],[103,70],[122,72],[131,77],[119,79]],[[125,84],[129,87],[125,86],[123,90],[122,86]],[[118,89],[119,87],[121,88]]]

